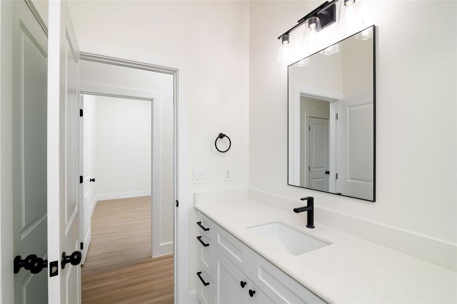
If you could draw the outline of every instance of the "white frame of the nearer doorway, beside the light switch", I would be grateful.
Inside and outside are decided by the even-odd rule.
[[[189,285],[189,208],[188,191],[188,101],[187,65],[168,67],[145,62],[121,59],[106,55],[81,52],[81,60],[124,66],[173,75],[173,181],[175,204],[173,212],[173,301],[192,302],[195,297]],[[183,228],[180,229],[180,226]]]

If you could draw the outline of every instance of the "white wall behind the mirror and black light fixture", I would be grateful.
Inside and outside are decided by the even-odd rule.
[[[455,243],[457,3],[364,3],[377,25],[375,203],[287,185],[287,66],[275,38],[319,4],[250,4],[250,187]],[[327,45],[348,34],[322,33]]]

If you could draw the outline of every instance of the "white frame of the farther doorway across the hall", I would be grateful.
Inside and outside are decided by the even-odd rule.
[[[158,215],[160,214],[160,205],[154,204],[152,198],[158,198],[157,201],[160,202],[160,108],[161,108],[161,94],[156,91],[149,90],[137,90],[137,89],[128,89],[122,87],[114,86],[104,86],[104,85],[92,85],[92,84],[81,84],[81,95],[95,95],[95,96],[105,96],[105,97],[116,97],[116,98],[125,98],[133,100],[147,100],[152,102],[151,107],[151,257],[157,257],[165,254],[170,254],[172,252],[173,242],[160,244],[160,226],[157,226],[160,223]],[[82,105],[81,105],[82,106]],[[80,122],[82,125],[82,122]],[[82,142],[83,135],[80,132]],[[84,150],[80,146],[80,170],[84,171],[83,162],[81,161],[84,156]],[[84,183],[80,185],[80,202],[81,210],[84,210]],[[98,198],[95,197],[96,202]],[[96,205],[94,204],[94,208]],[[93,208],[90,210],[92,214]],[[83,221],[84,219],[82,219]],[[155,227],[157,226],[157,227]],[[80,227],[80,237],[81,240],[84,240],[84,250],[83,260],[86,257],[87,250],[89,249],[90,241],[88,240],[88,235],[84,235],[83,230]],[[90,231],[88,231],[88,234]]]

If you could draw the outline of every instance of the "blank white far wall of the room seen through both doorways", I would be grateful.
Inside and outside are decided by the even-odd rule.
[[[95,183],[98,200],[151,193],[149,100],[95,96]]]

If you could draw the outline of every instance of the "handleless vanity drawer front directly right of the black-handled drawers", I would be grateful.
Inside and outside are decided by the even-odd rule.
[[[214,225],[214,245],[244,273],[249,271],[251,249],[219,225]]]

